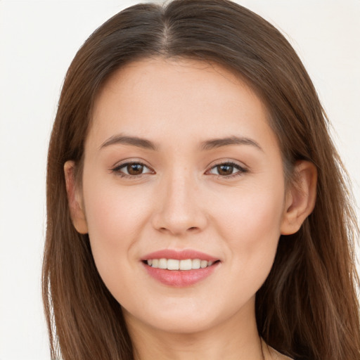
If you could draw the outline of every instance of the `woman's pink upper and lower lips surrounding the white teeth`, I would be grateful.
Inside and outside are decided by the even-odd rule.
[[[176,259],[176,260],[184,260],[184,259],[200,259],[207,260],[208,262],[215,262],[212,266],[207,266],[205,269],[193,269],[193,270],[167,270],[167,269],[158,269],[148,266],[145,263],[148,259]],[[205,254],[204,252],[198,252],[195,250],[160,250],[151,252],[150,254],[144,256],[142,259],[143,266],[148,272],[148,274],[155,278],[155,280],[160,281],[160,283],[173,286],[176,288],[183,288],[186,286],[195,285],[199,281],[204,280],[208,276],[210,276],[220,262],[217,262],[216,257],[212,257],[210,255]]]

